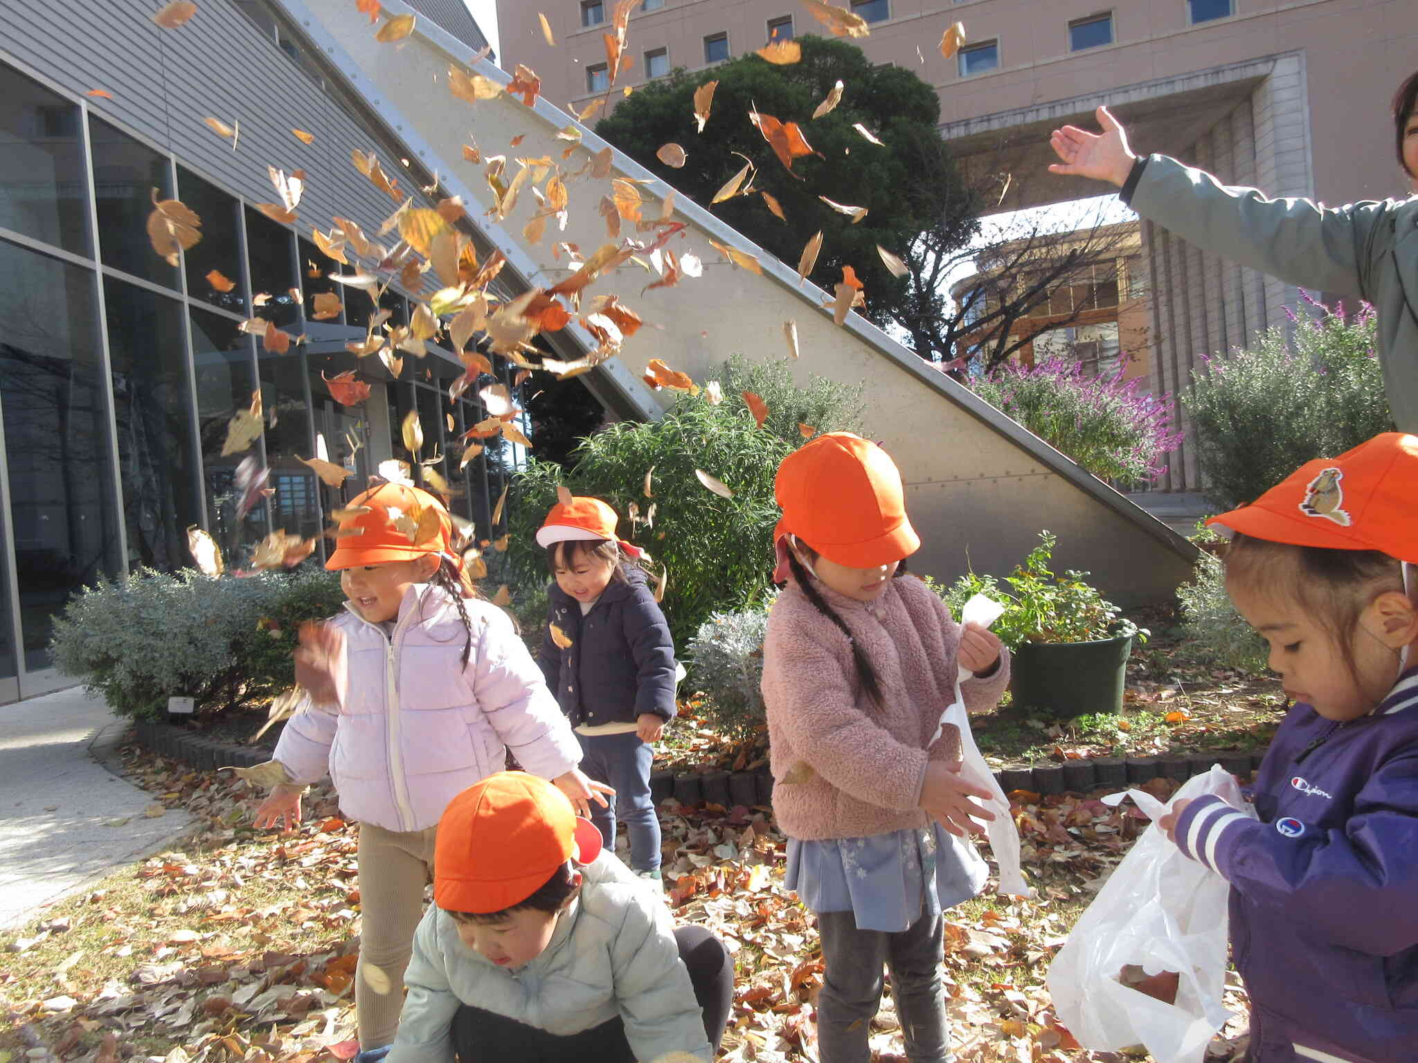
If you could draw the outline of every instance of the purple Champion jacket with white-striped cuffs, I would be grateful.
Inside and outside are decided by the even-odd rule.
[[[1296,704],[1254,792],[1259,821],[1202,797],[1176,831],[1231,883],[1251,1059],[1418,1059],[1418,668],[1357,720]]]

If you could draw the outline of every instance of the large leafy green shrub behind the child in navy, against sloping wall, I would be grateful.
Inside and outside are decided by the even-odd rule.
[[[744,390],[767,403],[764,428],[740,397]],[[665,566],[664,609],[676,645],[686,645],[710,614],[761,601],[771,588],[778,463],[805,442],[800,422],[821,432],[859,428],[861,388],[822,378],[800,388],[784,363],[735,361],[725,366],[723,395],[719,405],[702,394],[682,395],[659,421],[604,428],[577,448],[570,475],[532,458],[508,496],[506,557],[515,583],[526,588],[549,578],[535,536],[564,483],[574,495],[610,503],[621,517],[621,537],[652,554],[654,571]],[[651,468],[654,497],[645,497]],[[723,480],[733,497],[708,490],[696,469]],[[632,505],[642,517],[638,527],[630,519]],[[644,520],[651,506],[652,524]]]

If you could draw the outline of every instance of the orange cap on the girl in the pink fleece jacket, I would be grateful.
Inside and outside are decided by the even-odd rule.
[[[773,495],[783,509],[774,543],[794,534],[849,568],[899,561],[920,549],[896,463],[859,435],[828,432],[790,454],[778,466]]]

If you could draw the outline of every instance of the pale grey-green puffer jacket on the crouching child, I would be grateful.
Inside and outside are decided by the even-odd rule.
[[[580,897],[546,950],[518,971],[469,950],[452,917],[430,906],[414,934],[408,996],[386,1063],[452,1063],[448,1032],[464,1001],[559,1036],[618,1015],[642,1063],[671,1052],[710,1059],[665,903],[611,853],[581,874]]]

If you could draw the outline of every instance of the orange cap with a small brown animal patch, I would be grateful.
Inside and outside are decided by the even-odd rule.
[[[1378,550],[1418,563],[1418,435],[1384,432],[1339,458],[1316,458],[1249,506],[1207,523],[1273,543]]]

